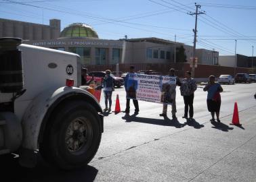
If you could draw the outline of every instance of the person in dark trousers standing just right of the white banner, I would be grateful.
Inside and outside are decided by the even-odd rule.
[[[186,71],[185,78],[182,81],[182,86],[179,88],[180,94],[182,94],[184,98],[184,117],[188,119],[188,107],[190,108],[190,117],[189,120],[193,119],[194,115],[194,108],[193,108],[193,101],[194,101],[194,91],[196,91],[196,80],[194,78],[191,78],[191,72]]]

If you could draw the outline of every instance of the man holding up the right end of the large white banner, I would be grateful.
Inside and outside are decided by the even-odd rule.
[[[175,69],[174,68],[171,68],[169,69],[169,76],[170,77],[175,77],[175,80],[176,80],[176,84],[173,85],[173,84],[169,84],[169,89],[168,89],[168,92],[166,94],[169,95],[169,97],[171,98],[171,114],[172,114],[172,117],[173,119],[177,119],[176,117],[176,113],[177,113],[177,110],[176,110],[176,86],[181,86],[181,83],[179,81],[179,78],[175,75]],[[166,86],[165,86],[166,87]],[[163,103],[163,113],[161,113],[159,116],[161,117],[166,117],[167,116],[167,106],[168,106],[168,103]]]

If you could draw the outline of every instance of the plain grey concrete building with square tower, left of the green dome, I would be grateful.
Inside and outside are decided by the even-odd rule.
[[[48,40],[60,36],[60,20],[49,20],[49,26],[0,18],[0,37],[12,36],[23,40]]]

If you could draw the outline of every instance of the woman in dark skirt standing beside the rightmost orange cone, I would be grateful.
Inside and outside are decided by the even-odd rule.
[[[203,88],[204,91],[207,91],[207,108],[208,111],[211,112],[211,119],[210,121],[215,121],[215,114],[217,117],[217,122],[220,122],[219,120],[219,110],[221,107],[221,96],[220,92],[223,92],[223,88],[221,87],[221,84],[215,83],[215,76],[210,75],[209,76],[209,82]]]

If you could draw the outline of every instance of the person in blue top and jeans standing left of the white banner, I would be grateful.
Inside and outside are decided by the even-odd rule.
[[[114,78],[110,75],[111,71],[106,70],[106,76],[103,78],[103,92],[105,97],[105,109],[103,111],[111,111],[112,92],[114,91]]]

